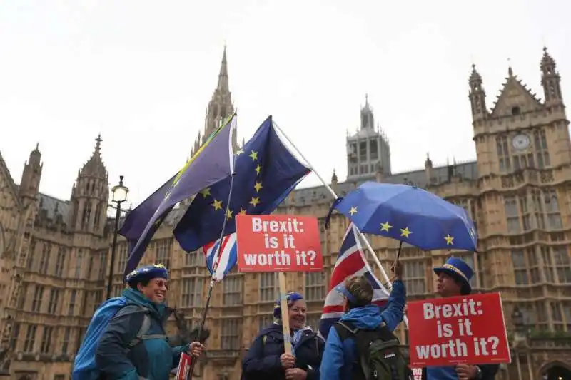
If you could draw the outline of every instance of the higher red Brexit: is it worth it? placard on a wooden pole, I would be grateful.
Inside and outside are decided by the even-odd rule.
[[[238,215],[238,272],[318,272],[323,269],[316,217]]]

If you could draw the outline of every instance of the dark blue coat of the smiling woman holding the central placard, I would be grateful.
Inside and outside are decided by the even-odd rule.
[[[295,345],[295,367],[307,371],[307,380],[319,379],[325,342],[315,332],[305,331]],[[280,356],[284,352],[281,325],[272,324],[254,339],[242,361],[243,380],[285,380]]]

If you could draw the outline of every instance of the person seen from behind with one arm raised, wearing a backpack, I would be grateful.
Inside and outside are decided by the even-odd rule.
[[[358,345],[363,339],[368,339],[362,346],[363,349],[376,339],[393,339],[395,354],[400,356],[398,339],[391,332],[403,321],[406,291],[401,281],[402,267],[398,262],[395,263],[393,271],[393,290],[383,311],[371,303],[373,287],[366,277],[353,277],[345,282],[345,286],[337,288],[345,296],[346,313],[329,331],[320,367],[321,380],[369,379],[369,374],[365,374],[368,369],[363,369],[363,361],[358,354]],[[349,328],[353,329],[353,332],[349,331]],[[400,366],[405,370],[404,359],[400,360]],[[403,373],[400,377],[392,377],[403,378]]]

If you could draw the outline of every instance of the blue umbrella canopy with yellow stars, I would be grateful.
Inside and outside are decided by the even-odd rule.
[[[392,237],[422,250],[476,251],[477,234],[468,213],[420,188],[366,182],[331,208],[361,232]]]

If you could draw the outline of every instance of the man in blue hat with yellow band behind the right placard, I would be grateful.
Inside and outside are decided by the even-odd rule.
[[[440,297],[455,297],[472,293],[470,279],[474,271],[458,257],[450,257],[445,265],[433,269],[436,279],[436,294]],[[428,366],[423,369],[423,380],[492,380],[499,365],[487,364],[473,366]]]

